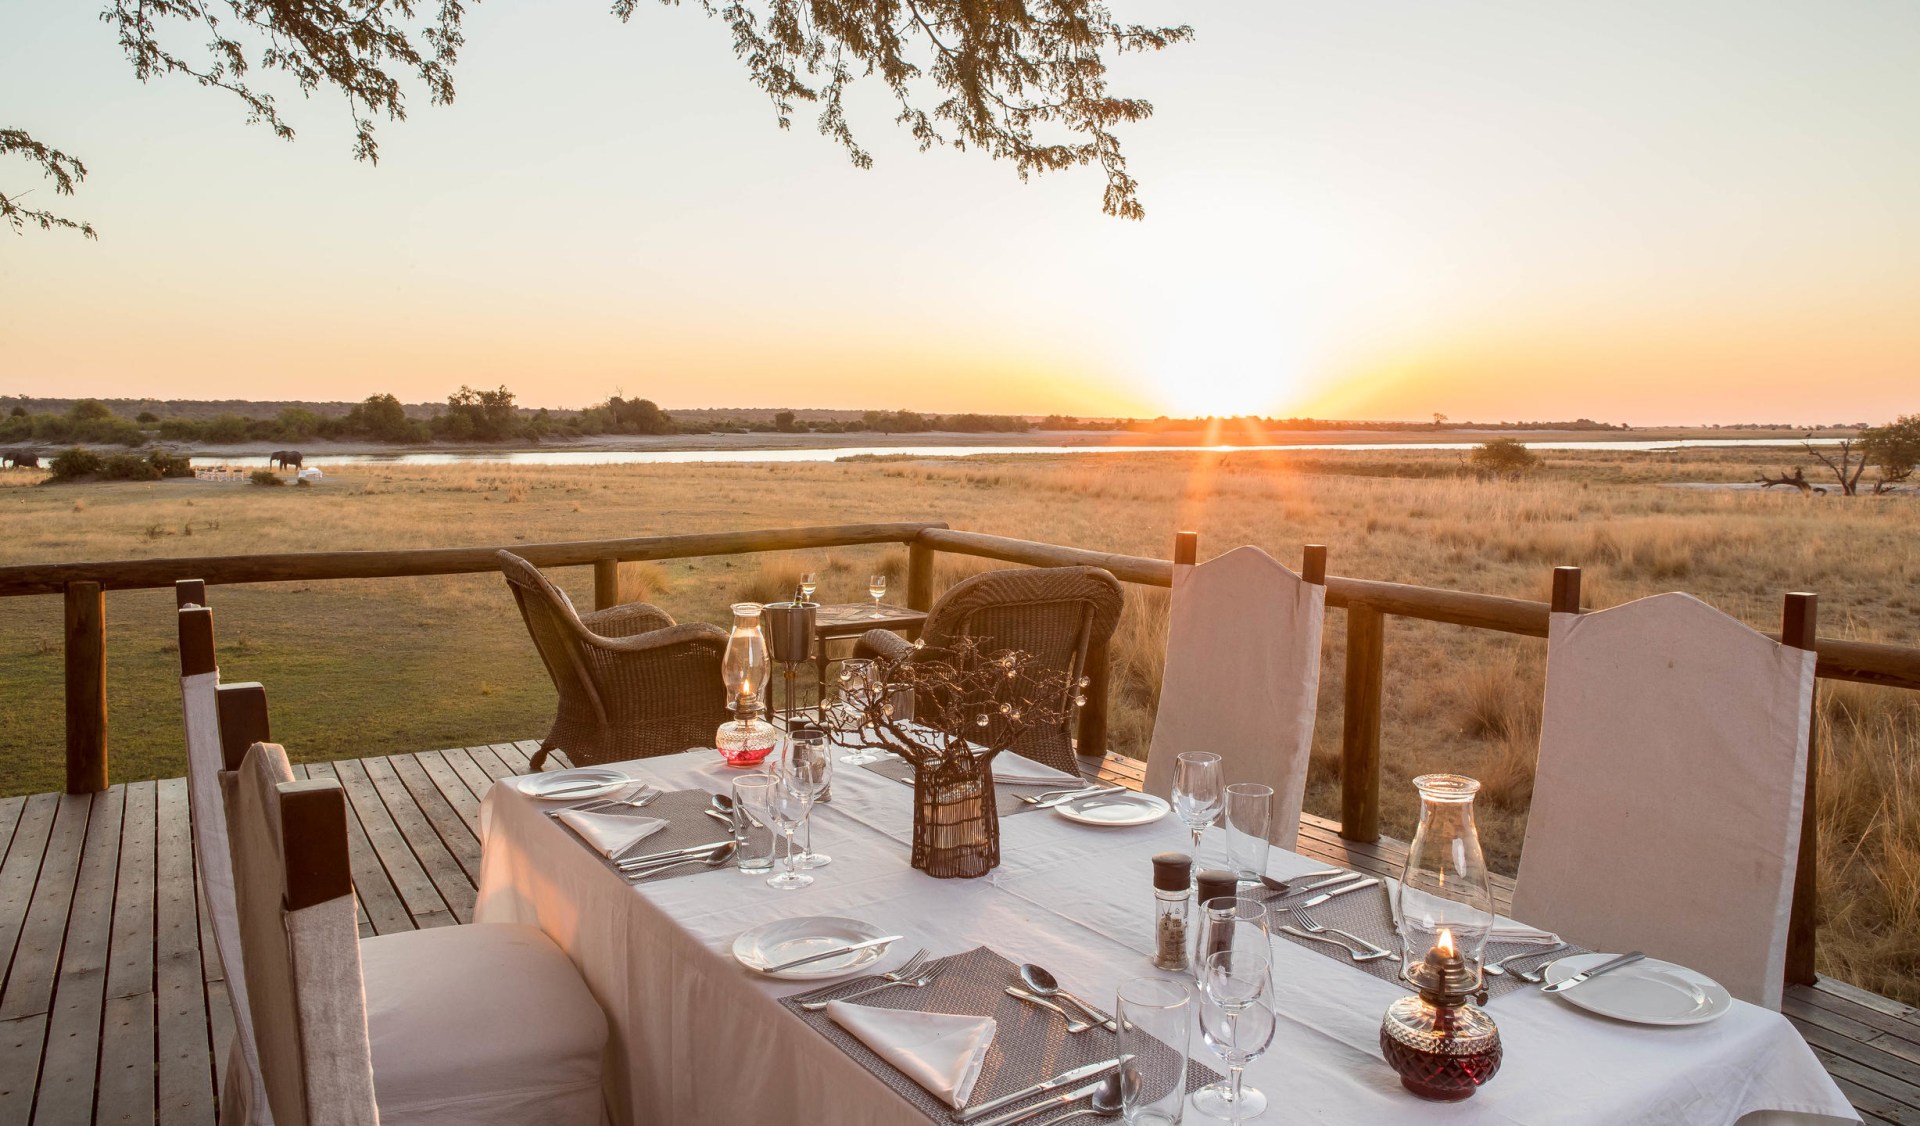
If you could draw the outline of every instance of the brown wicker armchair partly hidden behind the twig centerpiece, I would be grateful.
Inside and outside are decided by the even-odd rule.
[[[1089,649],[1104,651],[1114,636],[1119,605],[1119,580],[1098,567],[987,571],[956,582],[933,605],[920,632],[922,653],[939,653],[952,638],[972,636],[995,649],[1033,653],[1041,665],[1077,678]],[[910,651],[912,642],[889,630],[868,630],[854,642],[856,657],[893,659]],[[1029,730],[1014,751],[1058,771],[1079,771],[1073,719]]]

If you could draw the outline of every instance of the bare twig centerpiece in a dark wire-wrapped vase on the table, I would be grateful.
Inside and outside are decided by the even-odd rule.
[[[874,661],[862,678],[843,671],[829,726],[843,746],[881,747],[914,767],[914,867],[943,880],[985,876],[1000,865],[1000,811],[993,759],[1029,730],[1066,722],[1087,703],[1073,680],[1021,649],[956,638],[916,642]]]

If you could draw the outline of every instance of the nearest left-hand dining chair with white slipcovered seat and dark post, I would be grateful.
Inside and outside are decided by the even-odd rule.
[[[248,997],[276,1126],[597,1126],[607,1016],[553,940],[359,938],[346,794],[253,744],[232,786]]]

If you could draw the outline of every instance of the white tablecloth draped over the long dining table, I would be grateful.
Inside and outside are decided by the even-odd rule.
[[[660,786],[712,792],[735,776],[710,751],[626,769]],[[1000,869],[981,880],[933,880],[908,867],[910,797],[899,782],[839,767],[831,805],[814,815],[814,847],[833,863],[803,892],[776,892],[733,870],[634,888],[545,817],[543,803],[493,786],[482,809],[474,920],[536,924],[580,967],[612,1026],[614,1122],[914,1122],[918,1113],[899,1095],[778,1005],[812,986],[745,970],[730,953],[733,938],[770,918],[849,915],[906,936],[876,970],[922,945],[935,955],[991,945],[1106,1001],[1121,980],[1158,972],[1148,961],[1148,857],[1185,851],[1190,838],[1171,817],[1102,830],[1021,813],[1000,820]],[[1319,867],[1273,851],[1277,876]],[[1465,1103],[1427,1103],[1380,1061],[1380,1013],[1402,988],[1288,942],[1275,943],[1275,976],[1281,1030],[1248,1068],[1248,1082],[1273,1099],[1263,1118],[1271,1122],[1859,1120],[1778,1013],[1738,1003],[1711,1024],[1640,1028],[1536,991],[1490,1007],[1505,1041],[1494,1082]],[[1198,1034],[1194,1051],[1208,1057]],[[1188,1113],[1188,1120],[1204,1118]]]

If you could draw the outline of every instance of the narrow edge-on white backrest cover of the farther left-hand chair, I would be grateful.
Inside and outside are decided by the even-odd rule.
[[[221,709],[215,690],[221,674],[180,676],[180,711],[186,728],[186,794],[194,822],[194,855],[200,897],[213,924],[213,947],[227,970],[227,997],[234,1011],[234,1041],[221,1088],[223,1126],[273,1126],[267,1089],[259,1078],[253,1013],[248,1007],[246,963],[240,949],[240,909],[234,903],[232,851],[227,845],[230,776],[221,757]]]

